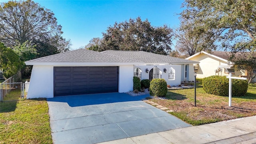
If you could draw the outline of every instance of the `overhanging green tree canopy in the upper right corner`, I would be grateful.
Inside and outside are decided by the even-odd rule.
[[[232,52],[229,60],[238,68],[256,68],[256,0],[185,0],[183,7],[182,18],[194,24],[190,34],[212,32],[216,44]],[[237,52],[244,56],[236,58]]]

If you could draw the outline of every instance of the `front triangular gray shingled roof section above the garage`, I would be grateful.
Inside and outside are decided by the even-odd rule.
[[[78,49],[26,62],[140,62],[129,58],[113,56],[92,50]]]

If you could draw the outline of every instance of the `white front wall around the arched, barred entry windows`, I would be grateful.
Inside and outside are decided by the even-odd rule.
[[[142,73],[141,73],[141,79],[144,80],[144,79],[149,79],[149,71],[152,69],[152,68],[158,68],[161,72],[162,72],[162,75],[161,75],[161,78],[164,78],[167,82],[167,84],[169,84],[170,86],[177,86],[180,84],[180,81],[181,81],[181,65],[146,65],[146,66],[134,66],[133,70],[135,70],[136,68],[140,68],[142,70]],[[175,79],[174,80],[168,80],[168,71],[169,71],[169,68],[174,68],[175,70]],[[146,73],[146,68],[148,68],[148,73]],[[164,72],[164,68],[166,68],[166,72]],[[132,73],[133,74],[133,73]]]

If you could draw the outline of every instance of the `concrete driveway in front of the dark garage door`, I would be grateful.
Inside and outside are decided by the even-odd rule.
[[[124,93],[48,98],[54,144],[94,144],[191,126]]]

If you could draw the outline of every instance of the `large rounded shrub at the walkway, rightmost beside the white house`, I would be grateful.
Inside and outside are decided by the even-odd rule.
[[[167,94],[167,82],[162,78],[156,78],[150,82],[150,96],[162,96]]]

